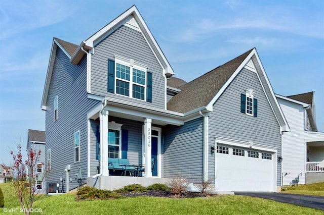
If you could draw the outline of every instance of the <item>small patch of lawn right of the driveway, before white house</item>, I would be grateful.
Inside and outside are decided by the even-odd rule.
[[[309,185],[285,186],[284,193],[324,196],[324,182]]]

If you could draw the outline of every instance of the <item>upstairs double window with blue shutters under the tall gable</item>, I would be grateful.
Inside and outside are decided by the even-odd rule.
[[[108,60],[108,92],[151,102],[152,74],[147,72],[147,66],[114,57],[115,61]]]

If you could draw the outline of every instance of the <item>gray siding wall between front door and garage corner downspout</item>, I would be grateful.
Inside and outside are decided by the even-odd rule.
[[[165,126],[164,178],[182,175],[190,182],[201,182],[203,175],[203,119],[183,126]]]

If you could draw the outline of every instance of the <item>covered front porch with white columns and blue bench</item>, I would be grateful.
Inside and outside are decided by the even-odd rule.
[[[183,120],[178,113],[145,111],[105,101],[88,113],[88,186],[113,190],[134,183],[166,183],[162,129],[182,125]]]

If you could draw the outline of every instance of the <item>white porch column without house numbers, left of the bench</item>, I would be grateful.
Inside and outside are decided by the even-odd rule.
[[[108,116],[109,112],[100,113],[100,173],[109,176],[108,171]]]

